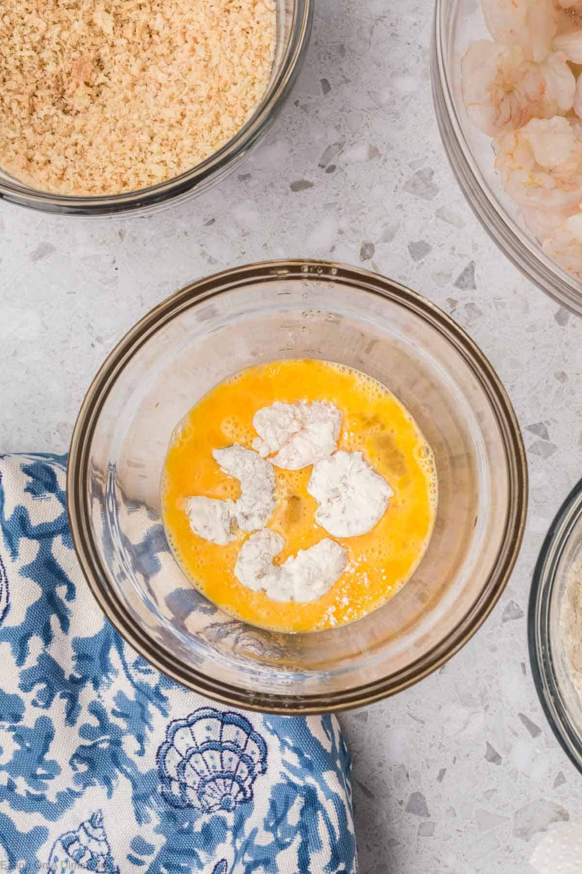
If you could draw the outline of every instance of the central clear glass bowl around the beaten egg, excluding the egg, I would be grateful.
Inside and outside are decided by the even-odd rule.
[[[435,453],[435,531],[414,576],[364,619],[281,634],[219,612],[182,575],[160,517],[176,423],[251,364],[311,357],[387,385]],[[72,436],[72,537],[92,592],[141,655],[191,689],[283,713],[339,710],[437,668],[490,613],[527,503],[510,401],[469,337],[407,288],[354,267],[273,261],[183,288],[145,316],[93,380]]]

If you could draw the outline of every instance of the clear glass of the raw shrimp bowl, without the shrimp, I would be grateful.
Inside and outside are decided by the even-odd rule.
[[[529,280],[582,314],[582,284],[542,251],[494,170],[489,136],[469,120],[461,94],[461,59],[473,39],[490,39],[478,0],[436,0],[431,79],[436,120],[462,192],[497,246]]]

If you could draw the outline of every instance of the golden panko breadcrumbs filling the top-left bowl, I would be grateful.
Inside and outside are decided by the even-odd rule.
[[[274,0],[0,0],[0,164],[78,196],[178,176],[257,108],[275,29]]]

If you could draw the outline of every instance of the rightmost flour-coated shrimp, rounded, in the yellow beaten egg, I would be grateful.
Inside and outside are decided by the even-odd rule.
[[[336,452],[313,465],[307,491],[318,502],[315,518],[336,538],[372,531],[394,495],[361,452]]]

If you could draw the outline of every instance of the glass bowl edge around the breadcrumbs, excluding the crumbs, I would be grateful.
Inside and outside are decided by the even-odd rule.
[[[152,212],[206,191],[239,166],[250,148],[269,129],[291,92],[303,65],[312,31],[313,0],[275,0],[277,36],[270,83],[263,101],[236,136],[187,173],[149,188],[103,197],[70,197],[31,188],[0,168],[0,198],[60,215],[108,216]]]

